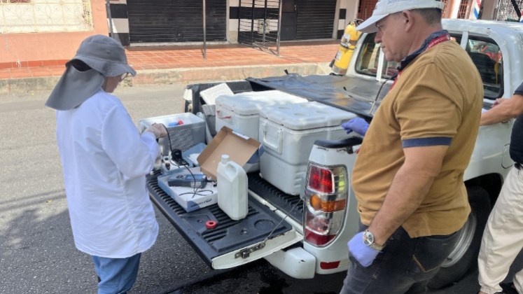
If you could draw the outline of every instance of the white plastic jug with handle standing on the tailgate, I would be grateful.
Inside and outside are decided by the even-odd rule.
[[[218,163],[218,207],[231,219],[239,221],[247,216],[247,174],[229,155],[221,155]]]

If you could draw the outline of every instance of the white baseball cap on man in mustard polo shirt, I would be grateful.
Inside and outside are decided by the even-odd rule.
[[[403,10],[439,8],[443,10],[445,3],[438,0],[379,0],[372,12],[372,16],[365,20],[356,29],[362,33],[375,33],[377,31],[376,22],[382,20],[387,15]]]

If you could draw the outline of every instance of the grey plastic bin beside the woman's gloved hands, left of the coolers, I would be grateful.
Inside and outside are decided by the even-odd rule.
[[[168,155],[171,149],[186,151],[197,144],[205,143],[205,121],[193,113],[178,113],[170,116],[158,116],[139,120],[140,132],[153,123],[162,123],[167,127],[169,137],[158,139],[162,155]],[[176,125],[174,125],[176,123]],[[170,125],[170,126],[169,126]]]

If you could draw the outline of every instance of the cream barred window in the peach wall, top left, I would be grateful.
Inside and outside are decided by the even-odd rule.
[[[0,34],[92,29],[90,0],[0,0]]]

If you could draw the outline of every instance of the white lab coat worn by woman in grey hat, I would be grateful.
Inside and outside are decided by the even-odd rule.
[[[76,248],[104,258],[151,248],[158,223],[145,175],[159,153],[154,134],[140,136],[120,100],[103,90],[57,111],[56,134]]]

